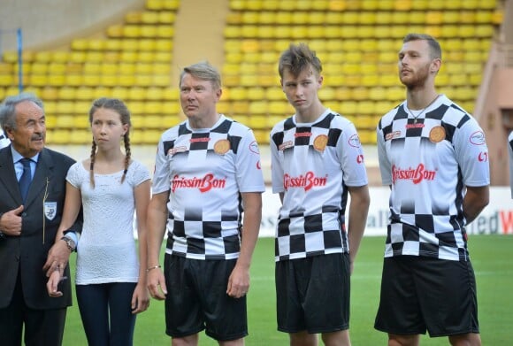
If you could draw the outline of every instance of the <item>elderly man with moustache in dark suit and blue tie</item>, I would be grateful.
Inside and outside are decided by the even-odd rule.
[[[66,264],[74,243],[56,234],[65,176],[74,161],[44,147],[45,116],[34,95],[7,97],[0,123],[11,141],[0,150],[1,343],[20,345],[24,327],[26,345],[60,345],[66,308],[72,304],[71,284],[63,281],[64,295],[50,297],[46,274],[60,270],[69,277]]]

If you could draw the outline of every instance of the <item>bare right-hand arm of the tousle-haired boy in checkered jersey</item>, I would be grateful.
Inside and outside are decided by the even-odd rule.
[[[371,197],[369,196],[369,187],[367,185],[360,187],[348,187],[351,201],[348,211],[348,237],[349,237],[349,258],[351,261],[351,273],[355,263],[356,254],[360,248],[360,242],[364,236],[364,230],[367,223],[367,213]]]

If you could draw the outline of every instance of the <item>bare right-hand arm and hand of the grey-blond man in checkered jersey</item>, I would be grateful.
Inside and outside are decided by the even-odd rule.
[[[260,192],[242,193],[244,218],[241,235],[241,253],[234,270],[228,279],[226,294],[240,298],[249,290],[249,266],[257,244],[260,221],[262,219],[262,194]]]

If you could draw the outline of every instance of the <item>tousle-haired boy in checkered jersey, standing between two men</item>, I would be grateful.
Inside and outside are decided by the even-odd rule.
[[[295,114],[272,129],[272,190],[282,206],[276,233],[278,330],[291,345],[349,345],[349,277],[364,234],[369,190],[352,123],[318,99],[314,51],[291,45],[279,77]],[[345,211],[351,203],[348,227]]]

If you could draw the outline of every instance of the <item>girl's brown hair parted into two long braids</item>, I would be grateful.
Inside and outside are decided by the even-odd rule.
[[[101,97],[96,99],[93,104],[91,105],[91,109],[89,110],[89,124],[92,125],[93,123],[93,114],[100,109],[109,109],[112,111],[116,111],[119,114],[119,117],[121,118],[121,124],[128,125],[128,131],[126,131],[126,134],[123,135],[123,142],[125,143],[125,169],[123,170],[123,176],[121,177],[121,184],[126,179],[126,172],[128,172],[128,165],[130,165],[130,159],[132,156],[132,151],[130,150],[130,111],[128,111],[128,108],[126,107],[126,104],[119,100],[118,98],[108,98],[108,97]],[[89,181],[91,183],[91,187],[95,188],[95,158],[96,158],[96,142],[93,140],[92,147],[91,147],[91,163],[89,165]]]

